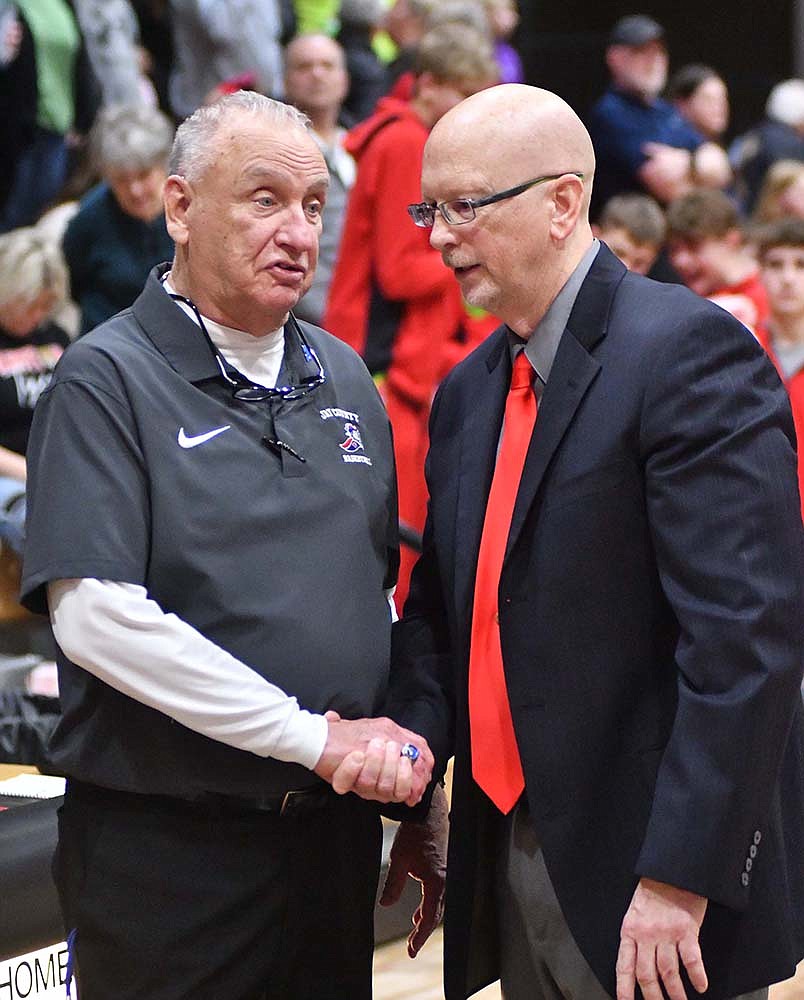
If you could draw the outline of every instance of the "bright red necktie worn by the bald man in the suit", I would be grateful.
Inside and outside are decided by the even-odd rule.
[[[497,594],[514,501],[536,422],[532,379],[533,368],[521,351],[511,374],[502,442],[483,521],[469,651],[472,774],[503,813],[514,807],[525,779],[505,686]]]

